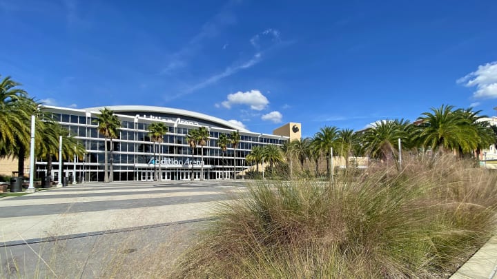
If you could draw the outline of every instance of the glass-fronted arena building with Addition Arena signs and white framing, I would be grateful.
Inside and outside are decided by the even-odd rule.
[[[220,118],[187,110],[143,105],[117,105],[107,108],[113,110],[121,121],[119,136],[113,140],[112,147],[109,145],[110,178],[114,181],[154,180],[155,164],[160,166],[159,176],[162,180],[190,180],[192,168],[194,179],[233,178],[234,174],[241,174],[250,167],[246,164],[245,157],[253,146],[282,145],[290,138],[286,134],[250,132]],[[66,127],[86,147],[87,154],[82,160],[76,158],[75,162],[70,160],[63,163],[63,176],[81,181],[104,180],[105,141],[99,134],[95,121],[101,109],[104,107],[45,107],[45,110],[52,114],[54,121]],[[160,143],[160,154],[153,153],[153,141],[148,135],[148,125],[154,122],[162,122],[169,127],[169,132],[164,136],[164,143]],[[204,146],[203,161],[200,148],[194,150],[192,159],[191,148],[185,140],[190,130],[201,126],[207,127],[210,132],[208,143]],[[300,128],[300,124],[298,127]],[[227,152],[222,152],[217,146],[220,134],[229,136],[233,131],[240,132],[241,138],[236,154],[231,145],[228,145]],[[200,173],[202,165],[203,175]],[[58,180],[58,162],[54,160],[52,167],[50,175]],[[36,176],[47,176],[46,172],[46,162],[37,161]]]

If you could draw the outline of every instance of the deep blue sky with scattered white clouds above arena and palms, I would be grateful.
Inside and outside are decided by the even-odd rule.
[[[376,2],[376,3],[373,3]],[[159,105],[270,134],[442,104],[496,116],[497,1],[0,0],[0,74],[72,107]]]

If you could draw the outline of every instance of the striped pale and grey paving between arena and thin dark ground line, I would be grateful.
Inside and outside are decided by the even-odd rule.
[[[231,180],[88,183],[1,198],[0,245],[207,218],[240,189]]]

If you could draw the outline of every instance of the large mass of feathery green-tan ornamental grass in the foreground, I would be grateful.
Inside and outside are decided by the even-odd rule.
[[[173,277],[447,278],[494,232],[496,185],[452,156],[262,181],[217,208]]]

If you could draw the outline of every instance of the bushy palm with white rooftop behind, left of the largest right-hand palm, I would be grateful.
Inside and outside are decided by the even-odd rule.
[[[389,163],[396,153],[395,145],[398,139],[405,141],[409,138],[406,133],[408,125],[411,124],[404,119],[378,121],[364,133],[362,139],[365,148],[371,156],[380,157],[384,162]]]

